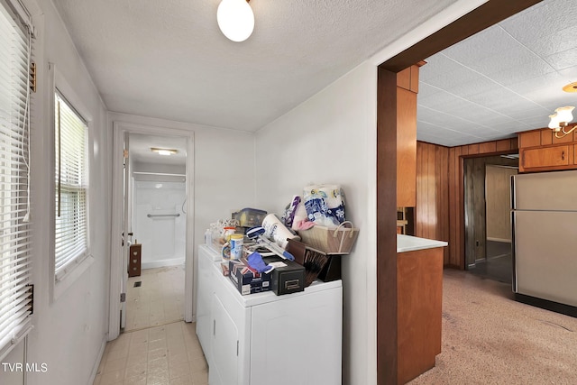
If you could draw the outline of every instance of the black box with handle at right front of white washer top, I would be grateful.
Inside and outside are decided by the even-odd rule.
[[[277,296],[305,290],[305,268],[296,261],[284,260],[276,255],[263,257],[267,264],[275,266],[272,275],[272,291]]]

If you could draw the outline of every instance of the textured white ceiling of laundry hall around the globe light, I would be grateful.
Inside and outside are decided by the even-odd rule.
[[[107,108],[255,131],[456,0],[251,0],[241,43],[220,0],[53,0]]]

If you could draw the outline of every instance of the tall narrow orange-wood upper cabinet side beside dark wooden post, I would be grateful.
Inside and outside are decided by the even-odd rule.
[[[397,206],[417,206],[418,69],[424,61],[397,74]]]

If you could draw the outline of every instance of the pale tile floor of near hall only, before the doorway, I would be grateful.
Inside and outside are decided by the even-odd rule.
[[[94,385],[205,385],[208,367],[183,321],[125,332],[106,344]]]

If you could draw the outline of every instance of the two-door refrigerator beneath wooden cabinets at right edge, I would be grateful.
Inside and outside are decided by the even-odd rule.
[[[577,307],[577,170],[511,180],[513,291]]]

